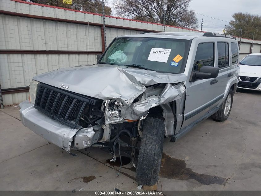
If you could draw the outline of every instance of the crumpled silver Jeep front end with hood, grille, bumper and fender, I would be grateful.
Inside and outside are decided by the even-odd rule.
[[[99,81],[97,72],[104,81]],[[106,79],[108,73],[115,80]],[[59,85],[65,78],[68,81]],[[69,78],[74,82],[70,84]],[[106,146],[123,129],[136,137],[148,115],[164,120],[169,137],[183,122],[186,79],[185,74],[100,65],[48,72],[32,81],[35,88],[30,88],[30,94],[35,97],[20,103],[21,120],[67,152],[93,144]]]

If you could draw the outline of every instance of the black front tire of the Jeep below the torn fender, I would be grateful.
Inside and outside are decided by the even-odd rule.
[[[144,120],[138,155],[136,181],[138,185],[155,185],[161,166],[164,141],[164,121],[154,117]]]

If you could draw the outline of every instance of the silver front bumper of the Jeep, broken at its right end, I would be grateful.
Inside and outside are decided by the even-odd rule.
[[[24,126],[67,152],[70,151],[71,147],[83,149],[92,145],[95,135],[93,131],[86,132],[85,130],[83,132],[81,128],[70,128],[61,124],[36,110],[34,104],[28,100],[21,102],[19,107],[20,118]],[[77,141],[77,143],[74,144],[74,141]]]

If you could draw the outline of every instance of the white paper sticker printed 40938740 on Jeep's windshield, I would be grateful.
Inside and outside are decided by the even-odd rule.
[[[171,49],[166,48],[151,48],[148,61],[158,61],[167,63]]]

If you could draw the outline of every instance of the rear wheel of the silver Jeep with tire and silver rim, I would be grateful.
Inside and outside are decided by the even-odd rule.
[[[225,101],[221,104],[219,110],[212,115],[212,118],[214,120],[217,120],[217,121],[225,121],[227,120],[229,114],[230,114],[230,111],[231,111],[231,108],[232,108],[232,103],[233,103],[233,91],[232,89],[229,90],[228,92],[228,95],[227,95],[227,98],[225,99]],[[229,102],[229,99],[230,99],[230,107],[228,108],[228,102]]]

